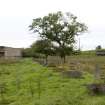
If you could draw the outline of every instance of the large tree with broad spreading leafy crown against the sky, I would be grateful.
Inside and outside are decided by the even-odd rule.
[[[62,12],[50,13],[48,16],[33,19],[29,27],[41,38],[54,42],[59,56],[64,58],[64,61],[66,55],[70,54],[73,49],[76,42],[75,36],[87,31],[87,26],[78,22],[76,16]]]

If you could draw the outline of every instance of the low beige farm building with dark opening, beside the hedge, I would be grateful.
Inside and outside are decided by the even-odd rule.
[[[0,46],[0,58],[20,58],[22,57],[21,48]]]

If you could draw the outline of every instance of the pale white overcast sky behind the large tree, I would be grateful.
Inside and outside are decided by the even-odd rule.
[[[73,13],[88,26],[81,50],[105,48],[105,0],[0,0],[0,46],[27,48],[37,36],[29,31],[32,19],[57,11]]]

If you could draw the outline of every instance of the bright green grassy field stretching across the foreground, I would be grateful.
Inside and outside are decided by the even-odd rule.
[[[75,56],[68,59],[80,63],[84,78],[64,77],[62,72],[31,59],[1,62],[0,105],[105,105],[104,95],[92,96],[85,86],[95,81],[90,71],[97,63],[104,65],[105,58]]]

